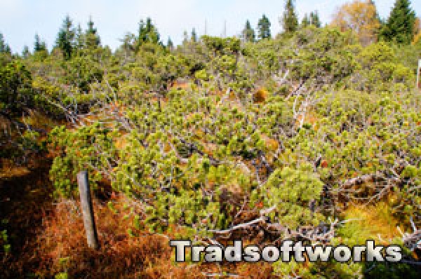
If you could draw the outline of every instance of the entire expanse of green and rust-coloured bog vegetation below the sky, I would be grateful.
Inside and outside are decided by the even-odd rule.
[[[112,51],[92,20],[82,30],[67,17],[51,51],[36,35],[22,55],[1,36],[2,189],[18,187],[18,166],[44,162],[44,196],[57,204],[30,251],[13,245],[21,221],[2,215],[1,273],[419,278],[421,41],[410,3],[396,1],[380,20],[371,1],[354,1],[321,27],[316,11],[299,23],[286,1],[281,24],[272,38],[263,15],[239,39],[192,32],[173,46],[148,18]],[[81,170],[96,196],[100,251],[83,246]],[[176,264],[168,237],[375,239],[401,245],[404,262]]]

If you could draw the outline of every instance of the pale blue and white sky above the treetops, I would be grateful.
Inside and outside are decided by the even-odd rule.
[[[387,18],[395,0],[375,0],[381,18]],[[297,0],[296,11],[301,19],[305,13],[319,11],[323,23],[332,19],[333,13],[347,0]],[[152,18],[164,43],[168,36],[180,43],[183,32],[196,29],[199,35],[220,36],[227,26],[227,36],[241,33],[246,20],[253,27],[263,14],[272,23],[272,34],[281,32],[279,17],[283,13],[283,0],[0,0],[0,33],[13,53],[21,52],[27,45],[33,48],[34,35],[39,34],[48,48],[55,42],[58,29],[68,14],[75,25],[86,28],[93,18],[102,44],[117,48],[126,32],[136,33],[138,22]],[[421,1],[412,0],[412,8],[419,16]]]

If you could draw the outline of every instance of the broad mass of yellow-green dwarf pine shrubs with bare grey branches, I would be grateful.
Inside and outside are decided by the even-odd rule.
[[[88,170],[95,189],[111,184],[145,213],[124,217],[131,238],[147,226],[201,240],[271,207],[272,224],[297,229],[378,200],[390,203],[387,215],[413,216],[418,225],[421,100],[412,69],[419,46],[361,46],[348,32],[317,28],[314,18],[269,39],[264,17],[257,42],[251,32],[243,42],[194,42],[186,32],[175,49],[170,39],[159,43],[147,20],[115,52],[100,45],[91,23],[71,40],[67,59],[57,49],[0,55],[2,109],[16,111],[14,121],[26,107],[69,119],[48,137],[55,193],[76,195],[76,173]],[[40,135],[27,130],[13,143],[44,150]],[[349,186],[373,174],[385,181]],[[121,213],[114,200],[107,206]],[[358,243],[356,231],[365,232],[347,223],[333,243]],[[279,262],[274,273],[352,278],[369,268]],[[406,274],[407,266],[382,268],[368,275]]]

